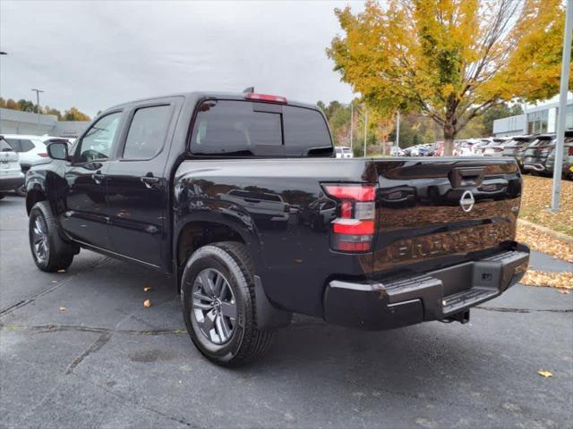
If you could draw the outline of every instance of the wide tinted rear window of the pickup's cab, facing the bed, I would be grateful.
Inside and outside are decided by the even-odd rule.
[[[293,105],[207,100],[194,122],[191,152],[197,156],[308,156],[332,153],[320,112]]]

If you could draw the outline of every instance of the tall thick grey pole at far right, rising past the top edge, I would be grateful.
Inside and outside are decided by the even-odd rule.
[[[567,0],[567,10],[565,12],[565,35],[563,36],[563,57],[561,60],[559,111],[557,117],[557,144],[555,145],[555,164],[553,164],[553,212],[559,211],[563,144],[565,140],[565,118],[567,117],[569,63],[571,61],[571,31],[573,31],[573,0]]]

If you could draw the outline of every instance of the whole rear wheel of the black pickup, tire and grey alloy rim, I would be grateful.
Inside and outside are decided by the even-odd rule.
[[[273,332],[256,325],[253,265],[244,244],[196,250],[185,265],[181,300],[193,343],[218,365],[241,365],[269,349]]]

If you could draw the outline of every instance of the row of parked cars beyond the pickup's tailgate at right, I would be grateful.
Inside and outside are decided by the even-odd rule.
[[[530,134],[454,142],[454,156],[512,156],[522,172],[552,175],[555,165],[555,133]],[[398,156],[443,156],[443,141],[407,147]],[[573,179],[573,130],[565,131],[561,171]]]

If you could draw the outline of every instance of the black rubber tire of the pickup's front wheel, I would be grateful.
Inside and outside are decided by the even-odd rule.
[[[38,234],[35,231],[35,228],[38,230],[38,224],[46,231],[40,231],[42,233]],[[47,201],[39,201],[32,207],[28,226],[30,250],[38,268],[48,273],[64,270],[72,264],[73,255],[78,253],[77,247],[62,240],[58,228],[59,226]],[[39,235],[43,237],[41,244],[43,257],[36,249]]]

